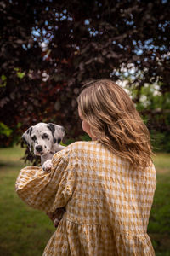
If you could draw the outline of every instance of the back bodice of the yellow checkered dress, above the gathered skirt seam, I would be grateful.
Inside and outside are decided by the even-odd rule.
[[[75,154],[72,161],[77,166],[77,184],[67,204],[67,218],[79,224],[117,227],[117,231],[129,234],[146,232],[156,189],[152,163],[145,170],[132,170],[127,160],[111,154],[97,141],[73,143],[70,148]]]

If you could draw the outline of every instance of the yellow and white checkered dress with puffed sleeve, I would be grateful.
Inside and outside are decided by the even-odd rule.
[[[66,207],[43,256],[155,255],[146,233],[155,189],[152,163],[132,170],[98,141],[72,143],[54,154],[51,172],[27,166],[16,181],[29,206]]]

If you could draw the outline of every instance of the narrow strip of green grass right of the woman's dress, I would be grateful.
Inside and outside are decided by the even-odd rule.
[[[170,154],[157,153],[154,158],[157,188],[150,212],[148,232],[156,256],[170,255]]]

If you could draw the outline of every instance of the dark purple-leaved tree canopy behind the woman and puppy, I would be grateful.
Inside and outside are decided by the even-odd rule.
[[[166,0],[1,1],[0,124],[13,131],[10,137],[3,132],[1,143],[40,120],[64,125],[67,137],[78,137],[82,84],[117,80],[125,67],[142,73],[128,83],[135,85],[136,103],[144,84],[159,84],[166,94],[169,9]]]

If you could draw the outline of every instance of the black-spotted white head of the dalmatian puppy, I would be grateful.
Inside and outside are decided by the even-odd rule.
[[[65,128],[60,125],[38,123],[31,126],[22,136],[24,142],[34,148],[34,154],[48,154],[55,143],[60,143],[65,135]]]

